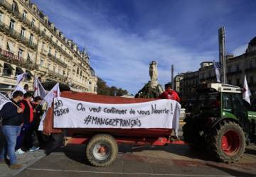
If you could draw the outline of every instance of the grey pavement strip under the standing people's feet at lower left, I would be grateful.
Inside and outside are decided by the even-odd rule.
[[[18,173],[26,169],[28,166],[38,161],[39,159],[45,156],[43,150],[39,150],[36,152],[26,152],[21,155],[16,155],[18,159],[18,164],[22,164],[23,167],[18,170],[11,170],[7,164],[0,164],[0,176],[16,176]]]

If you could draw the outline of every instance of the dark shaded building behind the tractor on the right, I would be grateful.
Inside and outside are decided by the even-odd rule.
[[[226,58],[227,84],[242,87],[246,75],[252,96],[256,97],[256,37],[250,40],[244,54],[237,57],[227,55]],[[198,71],[183,74],[180,81],[182,101],[195,99],[195,88],[198,84],[213,83],[216,80],[213,62],[202,62]]]

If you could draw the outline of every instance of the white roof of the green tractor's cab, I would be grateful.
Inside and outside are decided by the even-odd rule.
[[[213,83],[207,84],[208,89],[215,89],[218,92],[228,92],[228,93],[242,93],[242,88],[239,86],[233,86],[229,84]]]

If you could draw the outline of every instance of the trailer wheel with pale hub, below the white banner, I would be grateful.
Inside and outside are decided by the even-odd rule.
[[[114,137],[107,134],[95,135],[86,147],[86,156],[93,166],[108,166],[117,159],[118,146]]]

